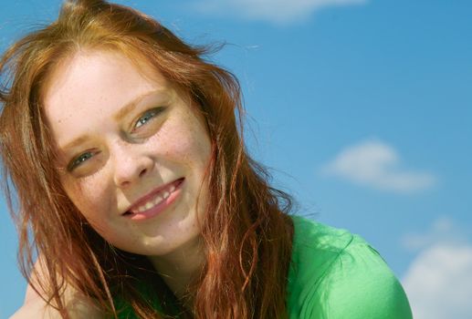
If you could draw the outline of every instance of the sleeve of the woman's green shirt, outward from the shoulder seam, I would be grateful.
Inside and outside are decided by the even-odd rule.
[[[312,286],[300,318],[412,319],[402,285],[367,242],[351,243]]]

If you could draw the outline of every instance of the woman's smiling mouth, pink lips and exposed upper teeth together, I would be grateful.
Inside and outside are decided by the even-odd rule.
[[[153,190],[150,194],[144,196],[142,200],[132,205],[122,215],[138,219],[146,219],[156,215],[173,202],[178,192],[177,190],[181,189],[183,182],[184,178],[174,180],[157,190]]]

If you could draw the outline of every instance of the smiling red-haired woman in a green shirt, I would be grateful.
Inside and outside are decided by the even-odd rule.
[[[205,53],[93,0],[5,52],[5,186],[29,283],[14,317],[411,318],[372,247],[288,215],[246,154],[236,78]]]

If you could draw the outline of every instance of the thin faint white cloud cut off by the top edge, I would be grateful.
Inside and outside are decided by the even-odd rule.
[[[366,3],[367,0],[198,0],[194,5],[206,14],[287,24],[306,19],[325,7]]]

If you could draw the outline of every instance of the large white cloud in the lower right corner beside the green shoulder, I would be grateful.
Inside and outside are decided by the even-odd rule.
[[[450,237],[447,236],[449,234]],[[458,235],[459,234],[459,235]],[[406,272],[403,285],[415,319],[466,319],[472,314],[472,243],[452,221],[441,218],[417,234],[424,246]]]

